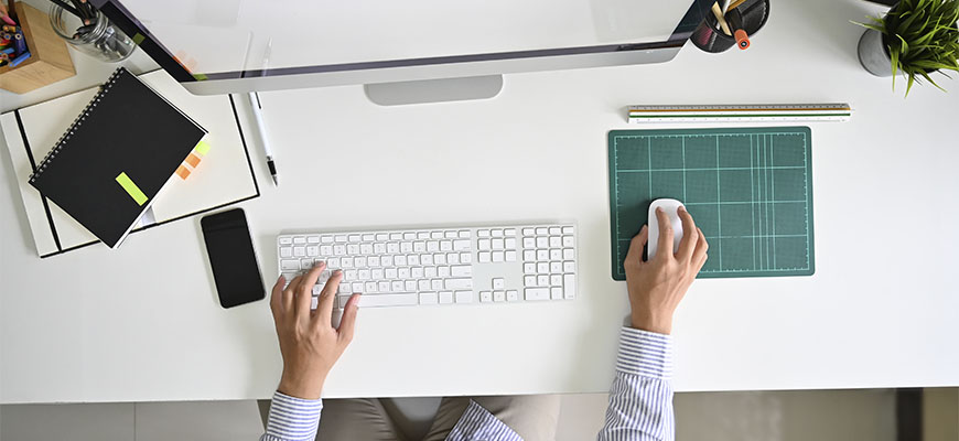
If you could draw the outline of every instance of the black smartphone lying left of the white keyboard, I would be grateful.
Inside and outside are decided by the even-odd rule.
[[[203,216],[200,225],[219,304],[233,308],[262,299],[263,279],[243,208]]]

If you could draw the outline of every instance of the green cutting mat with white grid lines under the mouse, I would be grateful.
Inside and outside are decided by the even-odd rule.
[[[811,154],[808,127],[610,131],[613,279],[660,197],[709,240],[698,277],[812,275]]]

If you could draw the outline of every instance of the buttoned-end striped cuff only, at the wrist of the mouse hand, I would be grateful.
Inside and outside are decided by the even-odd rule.
[[[623,326],[616,370],[659,379],[672,378],[672,337]]]

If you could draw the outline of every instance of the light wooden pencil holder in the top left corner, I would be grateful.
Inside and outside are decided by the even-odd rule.
[[[24,94],[76,75],[66,42],[53,31],[50,17],[22,2],[13,8],[30,58],[15,67],[10,64],[0,67],[0,88]]]

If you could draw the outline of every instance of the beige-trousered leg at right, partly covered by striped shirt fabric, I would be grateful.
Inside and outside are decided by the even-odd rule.
[[[423,441],[442,441],[460,421],[470,400],[476,401],[525,441],[553,441],[559,422],[558,395],[445,397]]]

